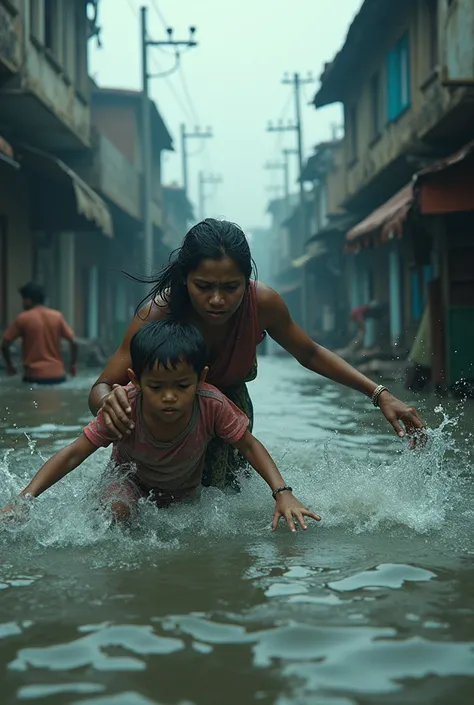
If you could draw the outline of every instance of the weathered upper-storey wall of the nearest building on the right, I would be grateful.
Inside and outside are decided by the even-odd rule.
[[[438,47],[439,65],[433,68],[427,61],[429,47],[429,22],[427,20],[427,3],[425,0],[394,5],[393,21],[384,25],[381,36],[374,40],[371,53],[361,58],[360,65],[355,66],[352,80],[348,84],[344,100],[346,137],[345,160],[347,164],[347,195],[356,194],[368,185],[384,168],[393,163],[417,140],[429,137],[444,117],[460,105],[466,89],[452,90],[443,85],[445,75],[444,59],[448,56],[448,66],[457,67],[457,73],[466,72],[474,78],[474,44],[472,27],[474,26],[474,5],[472,0],[459,0],[448,11],[446,2],[439,2]],[[396,9],[395,9],[396,7]],[[459,17],[462,19],[460,20]],[[455,18],[458,18],[455,20]],[[466,27],[469,41],[466,38]],[[460,26],[462,25],[462,30]],[[445,32],[445,26],[447,31]],[[405,32],[410,36],[410,105],[399,118],[387,121],[386,85],[387,54]],[[459,36],[456,34],[459,33]],[[457,47],[456,50],[454,47]],[[450,54],[451,52],[451,54]],[[449,58],[451,57],[451,58]],[[454,68],[453,68],[454,70]],[[376,72],[381,77],[381,122],[380,135],[374,136],[372,130],[371,78]],[[351,150],[352,131],[351,109],[357,111],[357,156]],[[448,129],[448,128],[446,128]],[[449,127],[453,138],[453,125]],[[439,139],[438,135],[438,139]],[[441,135],[442,137],[442,135]]]

